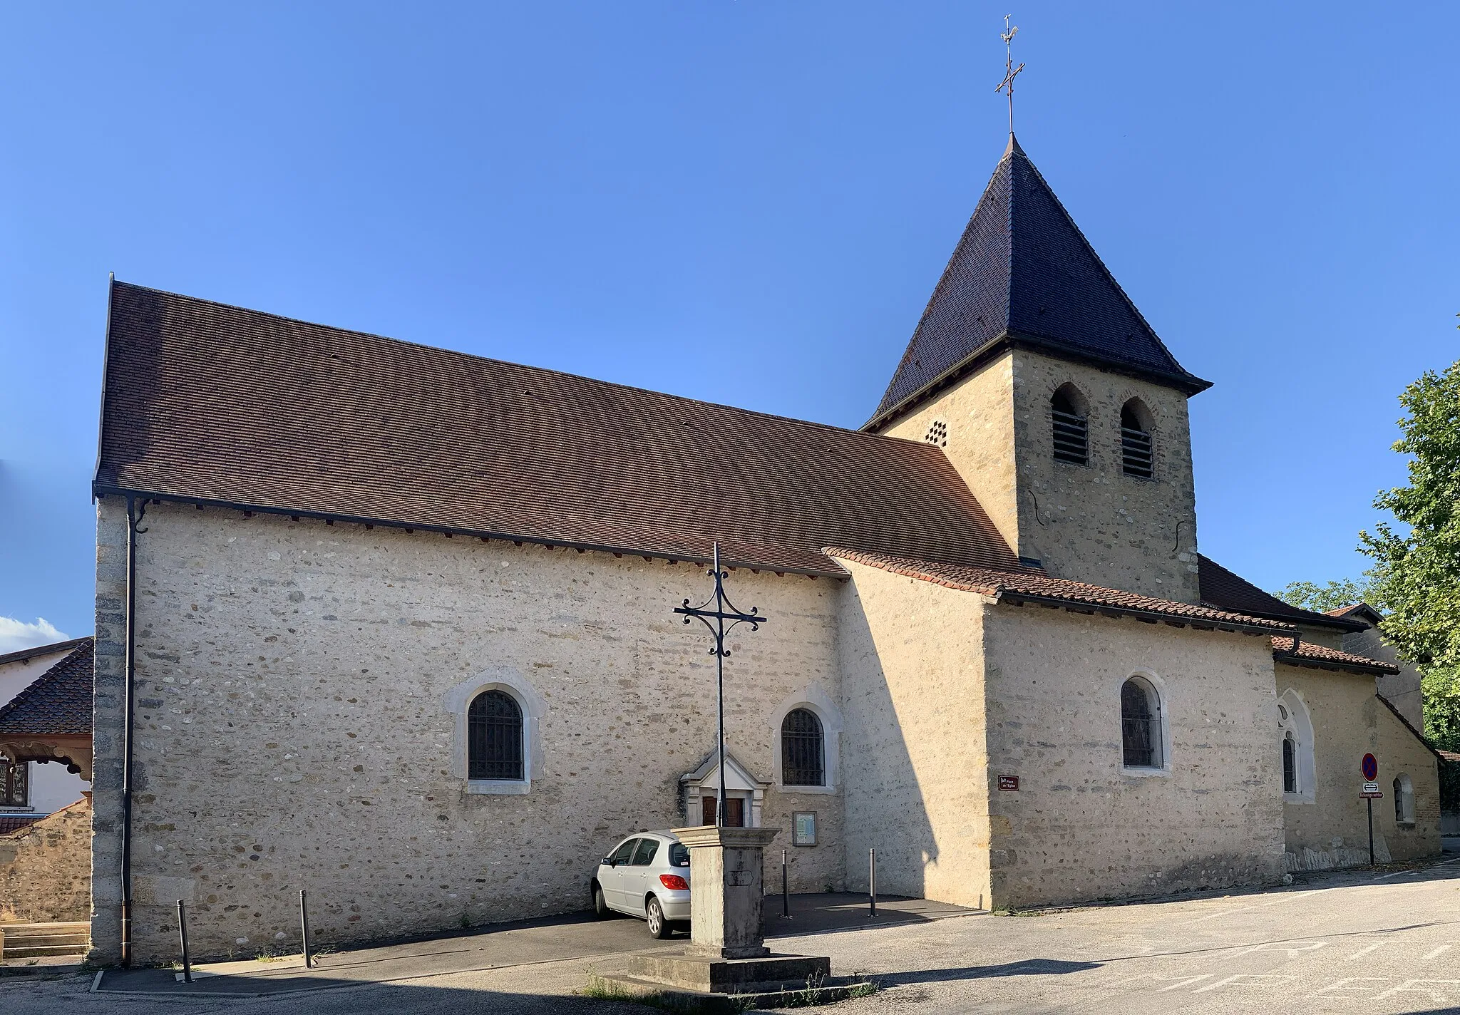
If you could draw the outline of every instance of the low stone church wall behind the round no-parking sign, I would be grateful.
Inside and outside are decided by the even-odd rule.
[[[1384,799],[1374,800],[1375,853],[1383,859],[1387,851],[1394,860],[1440,853],[1435,757],[1374,695],[1374,678],[1282,664],[1276,675],[1278,694],[1296,692],[1314,730],[1313,799],[1295,799],[1283,808],[1288,866],[1305,870],[1368,863],[1368,811],[1359,799],[1365,754],[1378,761],[1378,786],[1384,792]],[[1413,786],[1412,825],[1396,822],[1393,781],[1400,774],[1409,775]]]

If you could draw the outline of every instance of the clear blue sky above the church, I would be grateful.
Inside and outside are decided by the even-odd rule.
[[[1003,150],[1009,9],[6,6],[0,643],[92,629],[108,272],[860,425]],[[1460,6],[1015,22],[1021,143],[1216,383],[1202,549],[1355,575],[1396,396],[1460,356]]]

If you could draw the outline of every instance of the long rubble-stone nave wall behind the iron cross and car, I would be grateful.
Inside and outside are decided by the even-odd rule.
[[[670,610],[701,565],[439,533],[153,505],[139,537],[136,961],[293,948],[307,888],[321,943],[585,908],[623,834],[685,822],[679,777],[714,746],[705,634]],[[98,517],[95,955],[118,954],[124,513]],[[774,714],[837,701],[840,584],[734,571],[727,739],[774,771]],[[485,675],[485,678],[483,678]],[[453,774],[453,689],[530,688],[526,794]],[[764,825],[818,812],[793,889],[844,882],[841,796],[766,792]],[[778,884],[777,841],[768,878]]]

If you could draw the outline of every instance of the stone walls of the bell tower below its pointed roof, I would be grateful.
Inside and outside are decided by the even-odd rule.
[[[1067,383],[1088,402],[1086,466],[1053,454],[1050,399]],[[1120,410],[1130,399],[1155,419],[1155,479],[1121,472]],[[934,419],[948,424],[949,460],[1021,556],[1060,578],[1200,600],[1186,394],[1016,349],[886,432],[923,440]]]

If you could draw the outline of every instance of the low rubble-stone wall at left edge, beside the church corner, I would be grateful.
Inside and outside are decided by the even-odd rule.
[[[91,800],[82,797],[0,835],[0,923],[69,923],[91,916]]]

